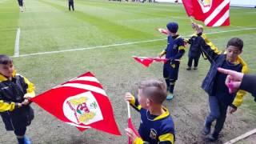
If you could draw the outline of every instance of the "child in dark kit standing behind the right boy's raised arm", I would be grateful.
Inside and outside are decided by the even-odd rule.
[[[187,63],[187,69],[191,70],[191,66],[194,60],[194,70],[198,69],[198,61],[201,56],[202,50],[198,42],[198,36],[202,35],[203,27],[201,25],[196,25],[194,22],[192,22],[192,28],[195,30],[195,34],[192,35],[192,37],[187,40],[187,42],[190,44],[190,51],[189,51],[189,62]]]

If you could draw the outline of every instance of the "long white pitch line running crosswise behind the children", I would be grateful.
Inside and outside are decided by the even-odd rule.
[[[217,32],[210,32],[210,33],[206,33],[206,34],[221,34],[221,33],[229,33],[229,32],[234,32],[234,31],[241,31],[241,30],[256,30],[256,27],[246,28],[246,29],[238,29],[238,30],[217,31]],[[186,36],[186,37],[189,37],[189,36]],[[42,54],[58,54],[58,53],[64,53],[64,52],[70,52],[70,51],[94,50],[94,49],[114,47],[114,46],[127,46],[127,45],[133,45],[133,44],[138,44],[138,43],[158,42],[158,41],[163,41],[163,40],[166,40],[166,38],[151,39],[151,40],[138,41],[138,42],[126,42],[126,43],[119,43],[119,44],[106,45],[106,46],[83,47],[83,48],[70,49],[70,50],[58,50],[58,51],[47,51],[47,52],[33,53],[33,54],[21,54],[21,55],[19,55],[19,57],[28,57],[28,56],[42,55]]]

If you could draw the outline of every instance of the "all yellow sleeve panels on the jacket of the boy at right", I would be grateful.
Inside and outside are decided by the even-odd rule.
[[[214,50],[215,54],[221,54],[221,52],[218,50],[218,47],[214,46],[214,44],[212,42],[210,42],[210,40],[208,38],[206,38],[206,34],[202,34],[202,38],[205,40],[206,44],[209,45],[212,50]],[[242,71],[241,72],[243,74],[248,73],[248,71],[249,71],[248,66],[247,66],[246,62],[241,58],[241,56],[238,56],[238,59],[237,59],[236,63],[237,64],[242,64]],[[245,90],[238,90],[238,93],[235,96],[234,101],[233,101],[232,104],[236,107],[241,106],[242,98],[245,95],[246,95]]]

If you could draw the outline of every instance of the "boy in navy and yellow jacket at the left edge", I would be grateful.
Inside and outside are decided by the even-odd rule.
[[[0,54],[0,115],[6,130],[14,130],[18,144],[31,143],[25,134],[34,118],[29,102],[34,95],[34,85],[16,74],[11,58]]]

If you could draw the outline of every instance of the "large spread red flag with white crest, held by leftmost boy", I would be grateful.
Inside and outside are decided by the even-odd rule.
[[[121,135],[110,100],[90,72],[39,94],[31,101],[78,130],[94,128]]]

